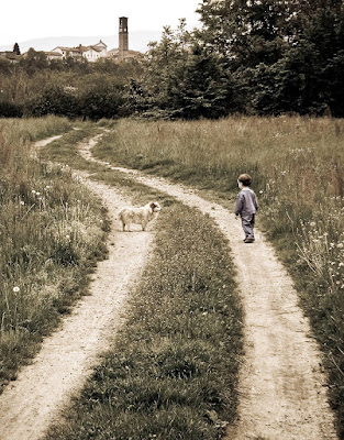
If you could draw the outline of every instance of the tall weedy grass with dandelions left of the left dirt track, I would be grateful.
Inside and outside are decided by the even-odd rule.
[[[103,257],[104,212],[68,167],[40,163],[27,140],[69,129],[57,118],[0,121],[0,388]]]

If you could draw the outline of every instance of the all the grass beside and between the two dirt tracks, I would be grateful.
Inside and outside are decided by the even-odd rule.
[[[100,223],[103,213],[93,206],[89,195],[80,188],[71,189],[74,184],[68,167],[62,170],[29,160],[25,140],[70,129],[65,120],[43,121],[41,129],[36,121],[31,121],[30,130],[25,129],[27,121],[22,121],[19,132],[22,141],[14,134],[12,121],[0,122],[1,161],[4,165],[1,204],[5,208],[2,209],[1,224],[10,228],[12,222],[15,226],[14,230],[3,228],[1,231],[4,249],[1,261],[9,273],[10,268],[24,267],[7,275],[8,284],[0,294],[0,365],[7,378],[14,374],[15,356],[23,358],[23,354],[18,354],[23,348],[26,351],[24,356],[27,355],[27,340],[40,339],[47,331],[47,321],[43,318],[48,315],[41,304],[36,306],[36,292],[40,293],[37,298],[44,298],[43,305],[51,307],[53,317],[64,312],[66,297],[75,295],[80,278],[71,274],[68,279],[76,284],[70,280],[74,287],[62,289],[62,302],[49,300],[54,298],[54,292],[51,295],[49,290],[51,279],[55,279],[51,267],[56,267],[57,273],[60,268],[64,275],[65,268],[79,271],[82,265],[75,263],[89,261],[85,248],[82,258],[74,256],[80,257],[78,243],[84,237],[80,223],[97,228],[100,242],[104,229]],[[198,186],[226,207],[233,204],[237,175],[247,172],[253,176],[253,188],[260,202],[259,226],[275,243],[292,274],[301,305],[310,316],[314,336],[324,353],[331,404],[339,415],[339,435],[344,438],[344,121],[231,118],[196,122],[123,120],[78,125],[81,130],[69,130],[62,140],[47,147],[42,157],[91,169],[96,178],[124,188],[134,199],[142,199],[149,190],[120,174],[87,164],[78,157],[74,148],[76,143],[109,127],[112,131],[106,133],[96,148],[99,157]],[[21,186],[21,182],[26,186]],[[44,191],[49,194],[52,188],[54,193],[49,199]],[[64,198],[67,196],[68,209]],[[157,197],[164,205],[166,222],[173,228],[169,230],[164,223],[165,216],[158,219],[159,231],[166,232],[159,233],[154,264],[147,268],[143,284],[133,294],[127,326],[119,336],[114,351],[104,358],[81,398],[67,414],[66,425],[52,431],[51,439],[107,439],[110,431],[116,432],[118,438],[135,438],[137,430],[145,432],[145,438],[174,439],[179,429],[185,429],[185,437],[180,438],[212,439],[219,438],[225,421],[234,417],[242,311],[232,282],[231,262],[226,257],[224,261],[220,258],[218,252],[224,244],[217,233],[211,234],[212,242],[209,242],[208,230],[213,228],[210,219],[196,217],[195,220],[193,212],[163,195]],[[81,202],[87,206],[85,211],[89,217],[86,219],[78,217],[77,200],[84,200]],[[29,210],[31,206],[33,208]],[[189,226],[181,228],[176,223],[174,213],[181,209],[189,219],[188,223],[197,224],[195,239]],[[53,222],[48,220],[52,212],[57,222],[55,217]],[[76,232],[68,229],[71,217],[77,220]],[[19,231],[23,224],[26,229],[21,235]],[[62,224],[59,234],[49,237],[57,237],[58,244],[44,254],[51,243],[45,232],[54,231],[56,224]],[[38,226],[37,230],[35,226]],[[9,232],[4,233],[4,230]],[[71,237],[75,237],[75,253],[69,251]],[[192,241],[188,242],[190,237]],[[22,253],[26,243],[36,246],[35,252]],[[64,251],[54,254],[60,248]],[[207,255],[200,252],[198,257],[202,248],[209,252]],[[186,249],[190,249],[192,254],[186,253]],[[11,256],[18,250],[20,255]],[[40,255],[42,260],[36,261]],[[10,260],[5,260],[8,257]],[[207,258],[220,263],[214,265]],[[84,267],[89,270],[88,265],[86,263]],[[47,272],[44,275],[41,271]],[[160,274],[164,276],[157,284]],[[182,274],[181,279],[179,274]],[[58,283],[55,280],[52,285]],[[162,296],[165,292],[166,297]],[[38,327],[30,327],[30,322],[36,322],[32,319],[34,314],[23,319],[23,310],[26,312],[31,308],[44,311],[42,321],[37,319]],[[223,326],[223,322],[228,324]],[[215,337],[213,332],[217,332]],[[220,342],[214,352],[215,340]],[[118,348],[121,355],[114,354],[119,353]],[[5,365],[8,359],[12,359],[10,365]],[[228,384],[229,388],[224,389],[221,383]],[[197,395],[192,394],[193,387],[198,389]],[[121,394],[123,389],[125,393]],[[140,398],[134,389],[140,391]],[[80,435],[82,429],[84,437]]]

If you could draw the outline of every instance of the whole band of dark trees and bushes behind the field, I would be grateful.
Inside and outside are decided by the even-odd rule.
[[[202,0],[200,29],[164,28],[143,62],[0,64],[0,114],[90,119],[343,117],[342,0]],[[12,113],[12,114],[4,114]]]

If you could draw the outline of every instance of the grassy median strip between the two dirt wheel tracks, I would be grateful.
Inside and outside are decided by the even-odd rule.
[[[219,439],[236,411],[242,310],[226,243],[177,204],[127,321],[53,439]]]

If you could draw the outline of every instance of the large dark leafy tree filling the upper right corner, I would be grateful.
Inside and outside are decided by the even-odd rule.
[[[198,37],[226,61],[242,110],[341,113],[342,0],[203,0],[198,12]]]

